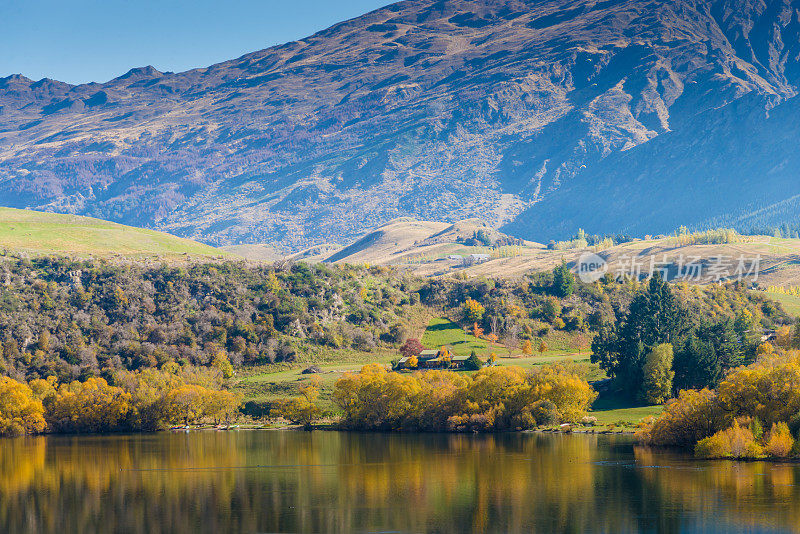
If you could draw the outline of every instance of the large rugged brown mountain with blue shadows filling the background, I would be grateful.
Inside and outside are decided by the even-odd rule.
[[[0,79],[0,203],[220,245],[796,223],[800,0],[408,0],[184,73]]]

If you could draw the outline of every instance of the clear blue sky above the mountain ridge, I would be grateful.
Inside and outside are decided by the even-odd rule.
[[[393,0],[0,0],[0,77],[105,82],[205,67]]]

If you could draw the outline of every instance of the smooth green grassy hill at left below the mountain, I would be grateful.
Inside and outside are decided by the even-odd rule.
[[[214,247],[90,217],[0,208],[0,249],[31,254],[221,256]]]

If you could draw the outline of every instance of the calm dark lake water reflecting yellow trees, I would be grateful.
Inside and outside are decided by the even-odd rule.
[[[800,466],[625,437],[238,431],[0,440],[3,532],[800,532]]]

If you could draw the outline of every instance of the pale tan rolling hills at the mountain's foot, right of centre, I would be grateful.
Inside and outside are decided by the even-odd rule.
[[[487,232],[488,246],[475,242],[473,236],[480,230]],[[301,255],[293,259],[393,266],[426,277],[458,274],[508,279],[548,271],[562,260],[575,269],[586,253],[597,253],[603,258],[608,265],[607,272],[612,275],[623,271],[629,274],[633,265],[638,266],[640,274],[647,274],[653,261],[660,268],[667,268],[670,278],[676,276],[681,265],[693,261],[702,264],[704,272],[722,261],[734,276],[740,258],[744,258],[748,280],[762,287],[800,286],[800,239],[735,235],[730,243],[701,244],[660,236],[633,239],[600,249],[571,242],[561,245],[549,249],[539,243],[517,240],[477,220],[448,225],[406,218],[380,226],[354,243],[338,247],[330,256]],[[469,256],[473,254],[488,258],[471,262]],[[756,258],[757,269],[749,272],[750,261]],[[719,272],[724,274],[724,270]],[[700,282],[708,281],[703,277]]]

